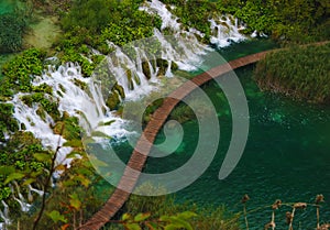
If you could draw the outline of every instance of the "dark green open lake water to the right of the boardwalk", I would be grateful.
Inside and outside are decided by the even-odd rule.
[[[234,58],[234,51],[263,50],[264,43],[241,44],[224,53]],[[249,52],[248,52],[249,53]],[[238,54],[240,56],[240,54]],[[261,92],[252,80],[253,66],[237,70],[243,85],[250,109],[250,133],[243,156],[235,169],[224,180],[218,179],[220,166],[231,138],[231,116],[221,89],[209,83],[202,89],[211,98],[219,116],[221,139],[216,157],[208,169],[195,183],[176,193],[179,202],[190,200],[205,205],[226,204],[234,212],[242,210],[240,200],[249,194],[248,210],[250,229],[263,229],[271,220],[270,206],[276,200],[283,202],[314,202],[317,194],[323,194],[326,202],[321,208],[321,221],[330,221],[330,108],[294,101],[278,95]],[[170,156],[148,158],[147,173],[170,172],[189,160],[198,142],[198,123],[186,122],[185,136],[180,146]],[[162,142],[164,134],[157,135]],[[117,146],[117,153],[128,158],[132,147],[128,143]],[[265,207],[268,206],[268,207]],[[276,213],[277,229],[286,229],[282,207]],[[307,207],[295,215],[294,229],[315,229],[316,210]],[[243,218],[242,218],[243,223]],[[300,228],[299,228],[300,227]]]

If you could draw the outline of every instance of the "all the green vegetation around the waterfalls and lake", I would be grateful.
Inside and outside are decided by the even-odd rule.
[[[35,6],[48,6],[46,1],[31,1]],[[101,63],[103,55],[110,54],[113,47],[135,40],[150,37],[154,28],[161,28],[161,19],[140,11],[143,0],[66,0],[53,13],[59,18],[63,37],[54,44],[52,52],[62,63],[73,62],[81,66],[82,74],[88,77]],[[205,43],[211,36],[208,19],[222,13],[233,14],[248,24],[244,33],[254,30],[270,33],[282,43],[305,43],[329,40],[330,4],[321,0],[164,0],[175,4],[172,11],[180,18],[186,28],[196,28],[206,34],[200,37]],[[55,7],[54,7],[55,8]],[[194,12],[194,13],[193,13]],[[28,30],[30,11],[13,11],[0,14],[0,53],[19,52],[22,50],[22,36]],[[166,31],[164,33],[170,33]],[[96,48],[101,53],[92,52]],[[148,47],[151,53],[155,47]],[[330,45],[294,47],[268,55],[257,64],[255,75],[262,89],[280,91],[293,97],[314,102],[330,102]],[[3,79],[0,85],[0,200],[9,204],[12,210],[19,210],[19,204],[13,197],[20,193],[33,202],[30,212],[11,212],[12,229],[19,224],[26,229],[75,229],[85,222],[103,204],[95,184],[100,183],[92,166],[88,162],[80,140],[78,119],[64,113],[61,116],[57,101],[50,97],[53,91],[47,85],[32,86],[31,80],[41,75],[44,69],[46,52],[36,48],[18,54],[1,68]],[[156,61],[160,74],[165,74],[168,62]],[[172,64],[174,69],[177,68]],[[150,78],[150,67],[142,63],[143,72]],[[131,73],[131,72],[130,72]],[[128,74],[129,75],[129,74]],[[132,75],[129,81],[132,83]],[[76,81],[84,87],[82,81]],[[132,84],[131,84],[132,85]],[[29,107],[38,105],[37,114],[45,119],[46,112],[53,118],[54,133],[63,135],[73,151],[67,156],[75,158],[72,167],[55,165],[57,151],[45,150],[40,140],[24,131],[12,118],[13,105],[7,102],[16,92],[30,92],[22,96]],[[123,89],[116,85],[107,105],[119,109]],[[153,111],[162,100],[147,107],[144,122],[150,120]],[[200,103],[196,101],[196,103]],[[138,105],[139,106],[139,105]],[[204,113],[208,112],[202,108]],[[134,113],[135,111],[132,111]],[[170,119],[185,122],[195,118],[194,112],[185,105],[179,105],[172,112]],[[21,130],[21,131],[19,131]],[[10,135],[8,138],[8,135]],[[2,144],[6,143],[6,144]],[[79,155],[81,158],[77,158]],[[51,176],[54,171],[63,171],[56,187],[52,187]],[[48,191],[42,198],[31,194],[29,185],[43,191]],[[113,188],[108,186],[107,194]],[[152,188],[147,188],[148,190]],[[101,193],[105,193],[103,190]],[[107,198],[107,197],[106,197]],[[38,211],[40,210],[40,211]],[[188,210],[188,211],[187,211]],[[195,229],[239,229],[238,216],[228,215],[223,207],[197,208],[194,205],[177,205],[168,197],[131,196],[125,204],[121,221],[109,223],[109,229],[141,229],[147,224],[173,224],[173,229],[194,226]],[[128,215],[130,213],[130,215]],[[35,220],[40,217],[40,221]],[[135,222],[134,222],[135,221]],[[293,220],[290,220],[292,222]],[[138,224],[139,223],[139,224]],[[34,227],[33,227],[34,224]],[[131,224],[131,226],[130,226]],[[138,227],[136,227],[138,224]],[[168,227],[168,229],[170,229]]]

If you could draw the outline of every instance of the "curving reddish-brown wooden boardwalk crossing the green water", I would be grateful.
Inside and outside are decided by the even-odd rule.
[[[186,81],[179,88],[177,88],[175,91],[168,95],[167,98],[164,99],[163,105],[153,113],[152,119],[147,123],[146,128],[143,131],[143,134],[138,141],[136,146],[123,173],[123,176],[121,177],[121,180],[118,185],[118,188],[114,190],[114,193],[105,204],[105,206],[79,229],[100,229],[117,213],[117,211],[128,200],[131,191],[133,190],[139,179],[140,173],[146,162],[147,155],[151,151],[151,147],[155,141],[158,131],[163,127],[170,111],[182,99],[184,99],[194,89],[198,88],[199,86],[204,85],[210,79],[229,73],[232,69],[255,63],[265,57],[265,55],[270,52],[272,51],[252,54],[245,57],[231,61],[228,64],[217,66],[206,73],[194,77],[191,80]],[[120,188],[124,188],[125,190],[122,190]]]

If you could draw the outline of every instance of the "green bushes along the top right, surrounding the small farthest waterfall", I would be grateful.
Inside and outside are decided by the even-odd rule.
[[[174,14],[186,26],[193,26],[210,36],[208,19],[215,15],[232,14],[248,28],[243,33],[254,30],[271,34],[278,42],[306,43],[328,40],[330,4],[320,0],[188,0],[163,2],[174,4]],[[194,12],[194,13],[191,13]]]

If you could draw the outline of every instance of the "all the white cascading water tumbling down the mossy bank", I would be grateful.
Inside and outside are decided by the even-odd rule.
[[[205,54],[205,51],[209,47],[198,42],[195,35],[204,36],[201,32],[190,28],[188,31],[180,29],[180,23],[177,22],[178,18],[174,17],[158,0],[152,0],[147,2],[141,10],[145,10],[150,13],[157,13],[163,21],[162,30],[170,28],[175,35],[175,41],[168,39],[162,34],[158,30],[154,29],[154,37],[152,40],[161,44],[161,56],[151,56],[144,51],[145,44],[133,43],[135,47],[135,56],[128,55],[123,51],[111,42],[109,45],[116,48],[112,55],[105,57],[107,68],[114,76],[117,84],[123,89],[124,97],[117,90],[120,96],[120,100],[136,100],[144,95],[150,94],[152,90],[157,90],[161,86],[161,81],[156,77],[160,72],[160,67],[156,65],[157,58],[167,62],[167,68],[164,73],[166,77],[173,77],[172,66],[174,63],[183,70],[194,70],[196,66],[201,64],[200,55]],[[230,18],[226,20],[219,19],[219,23],[215,20],[210,20],[211,30],[215,32],[215,36],[211,37],[211,43],[217,44],[219,47],[230,44],[230,41],[239,42],[245,39],[239,33],[242,26],[237,23],[232,23]],[[226,24],[226,25],[224,25]],[[185,36],[189,40],[182,40]],[[147,45],[146,45],[147,47]],[[97,51],[94,51],[97,52]],[[143,64],[147,66],[147,72],[143,67]],[[147,76],[146,76],[147,75]],[[128,121],[119,118],[114,111],[111,111],[107,106],[107,99],[105,98],[102,86],[95,81],[96,78],[85,78],[81,75],[81,68],[77,64],[67,63],[59,66],[57,69],[55,66],[50,66],[48,69],[41,76],[35,76],[33,79],[34,86],[46,84],[52,87],[53,92],[48,95],[48,99],[58,103],[58,111],[61,116],[64,112],[72,117],[79,118],[79,124],[84,128],[84,131],[88,136],[92,135],[92,132],[99,131],[105,136],[116,138],[118,140],[133,134],[133,132],[125,129]],[[82,83],[86,87],[77,84]],[[109,90],[110,91],[110,90]],[[109,94],[109,92],[108,92]],[[37,110],[38,103],[28,106],[24,103],[23,97],[28,94],[19,92],[11,101],[14,105],[13,117],[18,120],[20,128],[32,132],[36,139],[40,139],[45,149],[56,151],[57,145],[62,147],[57,152],[56,164],[66,165],[69,167],[70,158],[67,158],[67,154],[72,152],[72,147],[63,146],[66,140],[54,133],[52,125],[55,124],[53,118],[45,112],[42,118]],[[105,125],[107,123],[107,125]],[[92,135],[94,139],[97,139]],[[101,140],[105,139],[101,138]],[[54,176],[59,176],[61,172],[57,172]],[[15,182],[14,182],[15,183]],[[14,189],[16,187],[16,189]],[[28,199],[20,193],[18,185],[12,186],[12,193],[16,196],[13,198],[20,204],[23,211],[28,211],[29,197],[31,193],[36,193],[42,196],[43,191],[28,186],[29,194]],[[26,201],[28,200],[28,201]],[[2,210],[0,210],[0,218],[4,221],[0,223],[0,229],[4,229],[7,224],[10,224],[9,208],[8,205],[1,200]]]

